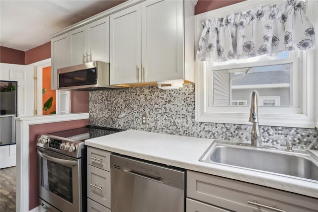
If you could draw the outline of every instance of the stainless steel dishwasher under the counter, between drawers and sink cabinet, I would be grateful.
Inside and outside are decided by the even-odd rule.
[[[112,212],[184,212],[185,171],[110,155]]]

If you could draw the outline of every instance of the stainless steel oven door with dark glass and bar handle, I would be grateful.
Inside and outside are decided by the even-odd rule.
[[[39,198],[63,212],[81,212],[81,159],[37,148]]]

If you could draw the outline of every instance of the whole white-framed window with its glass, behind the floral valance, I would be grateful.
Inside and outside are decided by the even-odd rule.
[[[207,16],[223,16],[225,11],[238,11],[239,6],[241,11],[245,11],[257,6],[257,3],[247,0],[236,6],[196,15],[196,41],[200,39],[200,29],[202,31],[200,23]],[[318,8],[317,4],[307,1],[307,15],[316,28],[318,18],[314,10]],[[275,57],[267,55],[219,63],[198,62],[196,121],[249,124],[250,93],[255,89],[258,92],[260,125],[315,128],[318,113],[318,106],[315,106],[315,102],[318,103],[315,93],[317,43],[316,50],[282,52]]]

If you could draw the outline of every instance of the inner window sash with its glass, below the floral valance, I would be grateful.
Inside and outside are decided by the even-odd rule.
[[[262,57],[265,61],[261,62],[254,62],[252,58],[252,62],[245,60],[245,63],[234,65],[223,62],[220,66],[215,63],[210,68],[213,82],[211,106],[249,105],[250,93],[256,89],[259,96],[279,95],[282,104],[275,106],[298,107],[300,69],[299,58],[294,56],[295,53],[283,52],[275,58]],[[230,104],[234,100],[246,99],[246,104]]]

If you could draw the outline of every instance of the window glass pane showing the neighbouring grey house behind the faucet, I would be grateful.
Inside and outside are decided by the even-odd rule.
[[[213,70],[213,105],[250,105],[250,93],[259,96],[278,96],[275,104],[259,106],[293,106],[291,76],[292,63],[256,66],[239,69]]]

